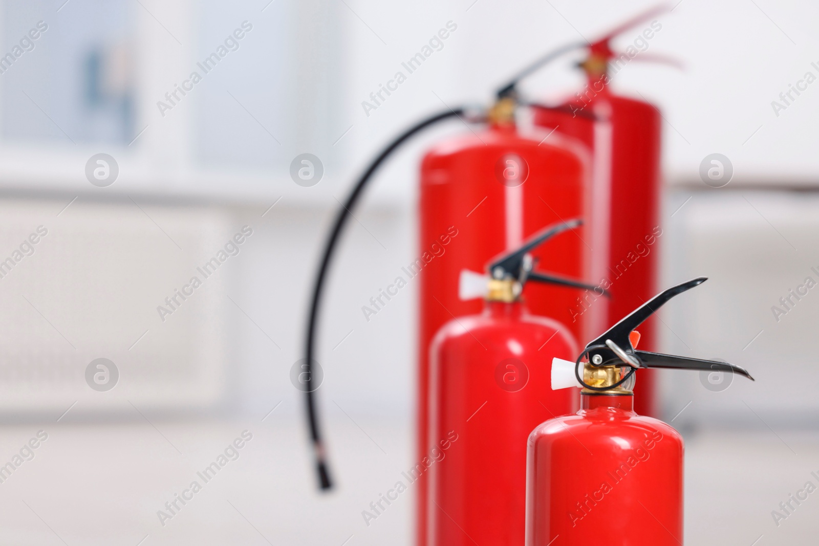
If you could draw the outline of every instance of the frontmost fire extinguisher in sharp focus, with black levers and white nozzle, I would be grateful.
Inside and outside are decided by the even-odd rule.
[[[729,363],[636,350],[636,327],[695,278],[668,288],[591,341],[576,361],[555,359],[552,388],[581,386],[581,409],[537,426],[527,444],[526,546],[683,544],[683,443],[633,409],[642,368],[738,373]],[[568,389],[567,389],[568,390]],[[573,391],[573,389],[572,389]]]

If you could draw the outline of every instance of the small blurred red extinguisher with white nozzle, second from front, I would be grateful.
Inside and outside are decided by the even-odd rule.
[[[532,252],[580,224],[544,228],[493,259],[486,276],[461,273],[459,296],[482,297],[484,309],[451,318],[429,350],[432,454],[426,457],[441,455],[428,471],[424,499],[430,546],[523,544],[526,438],[543,417],[574,409],[574,392],[548,386],[552,359],[577,354],[577,343],[568,327],[530,313],[521,292],[527,281],[566,283],[533,271]],[[546,255],[554,263],[556,257]],[[441,451],[445,444],[448,449]]]

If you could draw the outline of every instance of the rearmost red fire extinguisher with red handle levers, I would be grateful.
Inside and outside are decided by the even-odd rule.
[[[599,234],[600,243],[595,246],[590,278],[607,288],[612,299],[600,300],[592,291],[583,293],[572,301],[571,313],[577,318],[591,308],[604,308],[597,332],[656,291],[658,252],[654,243],[663,232],[658,225],[661,117],[649,102],[614,93],[610,82],[632,59],[670,62],[641,51],[662,29],[654,17],[667,9],[663,5],[649,10],[589,44],[588,56],[580,64],[586,73],[585,86],[562,109],[536,111],[536,124],[584,142],[594,157],[589,229]],[[613,38],[644,22],[645,29],[634,39],[638,46],[632,43],[625,52],[613,51]],[[578,113],[591,113],[594,118]],[[653,325],[646,325],[642,335],[643,345],[654,348]],[[636,408],[654,414],[654,372],[646,372],[640,383]]]

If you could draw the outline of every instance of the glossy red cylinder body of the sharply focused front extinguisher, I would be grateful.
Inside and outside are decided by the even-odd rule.
[[[581,398],[529,436],[526,546],[683,544],[681,436],[631,396]]]

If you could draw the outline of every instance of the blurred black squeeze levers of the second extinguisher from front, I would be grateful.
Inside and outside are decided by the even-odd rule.
[[[537,246],[541,246],[545,241],[555,235],[566,231],[567,229],[577,228],[581,226],[583,221],[581,219],[573,219],[568,222],[553,223],[546,226],[541,231],[536,232],[532,237],[529,237],[523,246],[513,250],[512,252],[503,254],[492,260],[489,264],[489,274],[491,278],[498,280],[504,278],[515,278],[521,284],[528,281],[544,282],[547,284],[556,284],[563,287],[585,288],[586,290],[603,290],[600,287],[586,284],[585,282],[575,281],[571,278],[561,277],[554,273],[540,273],[532,271],[534,267],[534,260],[529,254]],[[603,291],[604,296],[609,296],[609,292]]]

